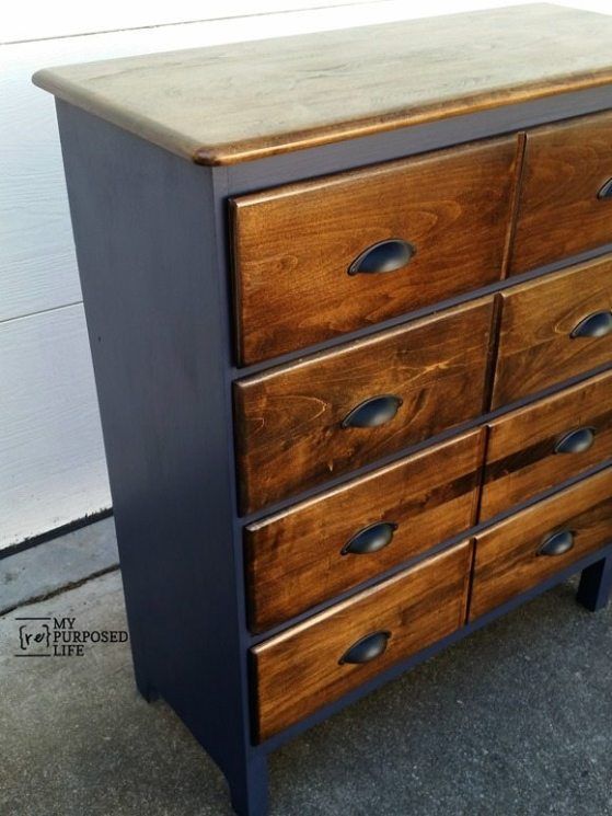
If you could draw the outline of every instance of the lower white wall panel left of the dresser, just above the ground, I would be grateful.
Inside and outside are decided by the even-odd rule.
[[[0,547],[111,506],[81,304],[0,324]]]

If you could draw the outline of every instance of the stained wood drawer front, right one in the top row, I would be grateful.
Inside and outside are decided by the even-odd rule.
[[[511,272],[612,241],[612,189],[604,196],[610,179],[611,113],[530,130]]]

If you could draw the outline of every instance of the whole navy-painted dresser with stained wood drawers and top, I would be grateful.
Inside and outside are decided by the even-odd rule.
[[[530,5],[35,74],[138,687],[241,816],[340,706],[575,573],[607,602],[611,42]]]

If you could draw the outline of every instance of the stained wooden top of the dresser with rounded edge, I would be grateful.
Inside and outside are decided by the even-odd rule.
[[[612,82],[612,16],[519,5],[47,68],[34,83],[233,164]]]

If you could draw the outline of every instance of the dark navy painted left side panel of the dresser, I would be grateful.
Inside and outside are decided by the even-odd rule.
[[[58,117],[138,686],[261,816],[211,171],[61,102]]]

